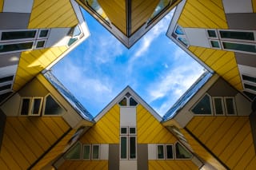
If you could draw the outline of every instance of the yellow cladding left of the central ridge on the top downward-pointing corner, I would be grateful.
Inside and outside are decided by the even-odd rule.
[[[126,1],[125,0],[98,0],[102,10],[110,19],[110,22],[116,26],[123,34],[126,33]]]

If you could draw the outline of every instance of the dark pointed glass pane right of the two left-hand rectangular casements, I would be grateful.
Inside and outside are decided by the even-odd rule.
[[[45,115],[60,115],[64,112],[64,109],[50,95],[46,97]]]

